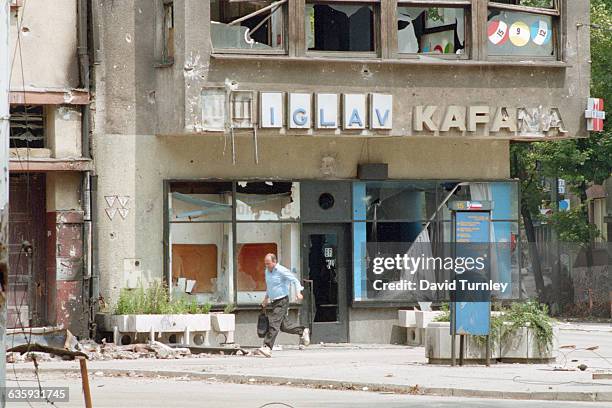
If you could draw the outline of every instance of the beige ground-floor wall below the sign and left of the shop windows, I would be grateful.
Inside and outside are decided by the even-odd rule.
[[[266,166],[254,164],[248,136],[236,138],[235,166],[230,151],[223,154],[223,145],[224,138],[215,136],[105,134],[95,138],[98,267],[105,299],[116,299],[127,272],[125,259],[140,260],[143,276],[163,277],[164,180],[320,179],[322,159],[330,156],[337,158],[336,179],[355,178],[357,164],[368,156],[389,163],[389,175],[395,179],[509,177],[506,141],[269,137],[262,138],[259,146],[260,163]],[[432,157],[439,165],[431,165]],[[499,160],[491,161],[492,157]],[[125,218],[119,209],[127,210]]]

